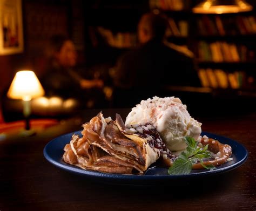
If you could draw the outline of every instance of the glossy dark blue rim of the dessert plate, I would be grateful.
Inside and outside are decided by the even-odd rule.
[[[195,172],[195,173],[190,173],[190,174],[179,174],[179,175],[145,175],[145,174],[113,174],[113,173],[103,173],[103,172],[97,172],[97,171],[92,171],[89,169],[82,169],[79,168],[77,166],[72,166],[70,164],[65,164],[64,161],[63,163],[57,161],[56,159],[53,159],[49,153],[48,153],[48,148],[57,140],[61,139],[61,138],[65,138],[66,136],[70,136],[72,134],[77,134],[77,133],[81,133],[82,130],[79,131],[74,131],[74,132],[70,132],[70,133],[65,133],[63,135],[59,135],[58,137],[50,140],[44,147],[43,149],[43,154],[46,160],[48,160],[51,164],[64,169],[65,171],[68,172],[72,172],[75,174],[79,174],[79,175],[83,175],[83,176],[87,176],[87,177],[93,177],[93,178],[102,178],[102,179],[114,179],[114,180],[129,180],[129,181],[142,181],[142,180],[154,180],[154,181],[158,181],[158,180],[171,180],[171,179],[179,179],[179,178],[194,178],[194,177],[198,177],[198,176],[206,176],[206,175],[215,175],[215,174],[219,174],[219,173],[224,173],[224,172],[228,172],[228,171],[232,171],[235,168],[240,167],[242,164],[244,164],[246,162],[246,160],[248,159],[248,151],[246,149],[246,147],[241,144],[240,142],[233,140],[231,138],[225,137],[223,135],[218,135],[218,134],[214,134],[211,132],[206,132],[206,131],[202,131],[202,135],[207,135],[210,138],[211,137],[220,137],[221,139],[226,139],[229,142],[232,142],[233,144],[237,144],[240,148],[242,148],[242,150],[244,151],[244,156],[242,156],[242,159],[240,159],[238,162],[234,162],[234,164],[231,164],[229,166],[225,166],[223,168],[217,168],[214,169],[213,171],[209,170],[209,171],[202,171],[202,172]],[[68,142],[67,142],[68,143]],[[237,146],[237,147],[238,147]],[[61,158],[60,158],[61,159]]]

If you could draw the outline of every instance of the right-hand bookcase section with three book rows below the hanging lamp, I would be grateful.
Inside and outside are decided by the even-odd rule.
[[[255,92],[256,13],[194,14],[193,52],[203,87]]]

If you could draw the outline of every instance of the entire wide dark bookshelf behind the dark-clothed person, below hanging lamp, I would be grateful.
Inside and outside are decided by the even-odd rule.
[[[194,53],[203,87],[225,92],[255,92],[255,9],[216,15],[193,13],[197,2],[191,0],[98,2],[101,3],[90,5],[85,11],[86,20],[91,20],[86,23],[87,46],[96,55],[104,52],[103,55],[111,57],[111,64],[121,53],[137,46],[140,16],[150,10],[159,10],[169,18],[167,41],[185,46]],[[255,3],[251,4],[256,8]],[[118,24],[117,19],[122,24]]]

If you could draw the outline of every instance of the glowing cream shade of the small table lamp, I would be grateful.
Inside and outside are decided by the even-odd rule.
[[[31,100],[31,98],[44,95],[44,89],[36,77],[36,74],[30,70],[23,70],[16,73],[14,80],[7,92],[7,97],[12,99]]]

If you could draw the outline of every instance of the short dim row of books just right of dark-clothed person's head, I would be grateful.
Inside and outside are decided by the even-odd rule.
[[[169,27],[166,30],[166,36],[187,37],[188,36],[188,23],[187,21],[180,20],[174,21],[173,18],[168,18]]]

